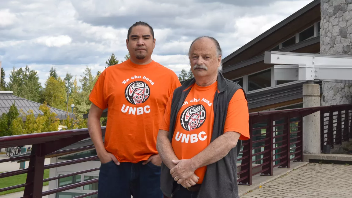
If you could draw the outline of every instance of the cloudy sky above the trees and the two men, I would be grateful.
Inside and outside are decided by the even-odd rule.
[[[152,59],[176,74],[197,36],[215,37],[224,57],[312,0],[0,0],[0,61],[6,81],[13,66],[38,71],[44,85],[50,67],[62,77],[102,71],[115,53],[123,60],[127,30],[149,23]]]

